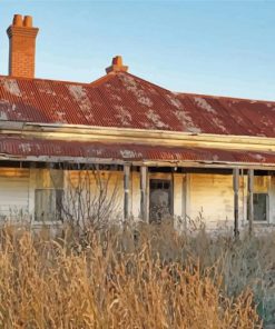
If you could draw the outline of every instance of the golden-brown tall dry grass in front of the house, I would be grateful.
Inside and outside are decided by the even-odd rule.
[[[205,232],[124,227],[75,240],[71,230],[52,239],[6,227],[0,235],[0,328],[262,328],[249,289],[228,297],[228,256]]]

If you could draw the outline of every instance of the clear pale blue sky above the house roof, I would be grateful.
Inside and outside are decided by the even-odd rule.
[[[40,29],[36,77],[91,82],[121,54],[177,92],[275,100],[275,0],[0,0],[0,73],[14,13]]]

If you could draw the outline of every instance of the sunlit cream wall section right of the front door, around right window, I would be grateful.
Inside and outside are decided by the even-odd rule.
[[[207,228],[234,226],[234,191],[230,175],[189,175],[187,215],[202,215]],[[269,222],[275,223],[275,180],[255,176],[254,192],[269,195]],[[239,177],[239,226],[247,225],[247,177]]]

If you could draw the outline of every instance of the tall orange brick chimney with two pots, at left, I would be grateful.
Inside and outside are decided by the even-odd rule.
[[[9,76],[33,78],[38,29],[32,27],[32,17],[14,14],[7,33],[10,41]]]

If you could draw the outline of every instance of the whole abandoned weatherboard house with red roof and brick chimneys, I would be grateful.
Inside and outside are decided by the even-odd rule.
[[[37,79],[32,18],[16,14],[7,32],[1,219],[57,223],[97,209],[176,227],[200,213],[235,233],[275,223],[275,102],[176,93],[119,56],[90,83]]]

